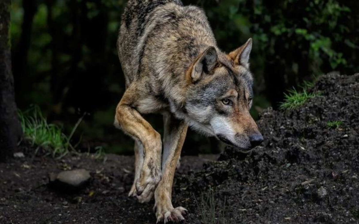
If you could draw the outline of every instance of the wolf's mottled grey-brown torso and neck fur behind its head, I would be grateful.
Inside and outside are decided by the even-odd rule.
[[[182,110],[188,69],[209,46],[220,53],[208,19],[202,9],[178,0],[130,1],[117,42],[126,86],[143,83],[146,94],[167,100],[173,113]]]

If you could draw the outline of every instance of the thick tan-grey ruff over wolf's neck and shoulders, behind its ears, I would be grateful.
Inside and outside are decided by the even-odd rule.
[[[204,11],[195,6],[166,4],[154,10],[153,17],[149,26],[156,32],[149,35],[158,41],[149,48],[149,57],[164,96],[181,108],[191,84],[188,70],[205,49],[216,47],[216,41]]]

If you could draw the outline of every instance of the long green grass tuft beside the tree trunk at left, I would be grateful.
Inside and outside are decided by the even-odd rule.
[[[28,139],[33,146],[43,147],[52,157],[61,158],[69,153],[70,149],[74,149],[70,144],[70,139],[83,116],[76,123],[69,137],[62,133],[59,126],[48,124],[38,106],[32,106],[24,112],[19,111],[19,118],[25,139]]]

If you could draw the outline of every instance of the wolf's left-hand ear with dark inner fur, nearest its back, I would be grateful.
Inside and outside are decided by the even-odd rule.
[[[208,74],[218,63],[218,54],[216,48],[208,47],[196,60],[192,67],[192,82],[198,81],[202,74]]]

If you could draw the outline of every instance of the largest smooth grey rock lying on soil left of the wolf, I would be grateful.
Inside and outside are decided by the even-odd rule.
[[[51,186],[62,191],[77,190],[91,177],[89,171],[85,169],[62,171],[58,175],[50,173],[49,176]]]

